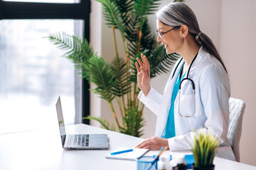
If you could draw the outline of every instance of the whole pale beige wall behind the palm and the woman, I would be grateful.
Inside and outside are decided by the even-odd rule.
[[[163,0],[162,4],[169,3]],[[98,2],[92,1],[92,7]],[[256,67],[256,1],[255,0],[186,0],[186,4],[192,8],[198,18],[199,26],[203,33],[206,33],[215,43],[220,55],[228,68],[231,84],[231,96],[245,101],[245,116],[242,126],[242,137],[240,142],[240,159],[245,164],[256,166],[256,105],[253,104],[256,96],[255,84]],[[95,11],[94,11],[95,10]],[[92,8],[92,15],[100,15],[99,7]],[[152,33],[156,29],[156,17],[149,16]],[[91,42],[100,51],[102,57],[111,61],[114,57],[114,46],[112,30],[104,24],[104,19],[92,19]],[[100,29],[101,35],[94,28]],[[95,35],[95,36],[92,36]],[[119,45],[122,41],[119,38]],[[96,50],[97,51],[97,50]],[[122,49],[119,54],[123,54]],[[154,86],[159,93],[163,93],[164,86],[169,74],[164,74],[151,79],[151,86]],[[93,101],[92,101],[93,100]],[[114,123],[110,107],[106,101],[91,98],[91,115],[101,115]],[[100,106],[100,107],[99,107]],[[97,107],[97,108],[96,108]],[[146,120],[144,138],[154,135],[156,116],[147,108],[144,108]]]

